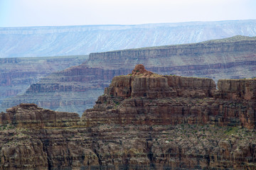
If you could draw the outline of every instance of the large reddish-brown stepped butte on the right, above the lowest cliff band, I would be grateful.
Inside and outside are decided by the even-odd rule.
[[[135,67],[135,71],[137,70]],[[96,124],[211,124],[255,128],[256,79],[220,80],[136,74],[114,77],[82,118]],[[147,75],[147,76],[146,76]],[[99,120],[100,118],[100,120]]]

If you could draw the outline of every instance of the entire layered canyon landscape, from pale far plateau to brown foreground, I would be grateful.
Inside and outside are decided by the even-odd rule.
[[[256,169],[255,28],[0,28],[0,169]]]

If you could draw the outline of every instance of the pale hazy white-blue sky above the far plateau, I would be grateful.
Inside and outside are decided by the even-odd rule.
[[[0,0],[0,27],[256,19],[256,0]]]

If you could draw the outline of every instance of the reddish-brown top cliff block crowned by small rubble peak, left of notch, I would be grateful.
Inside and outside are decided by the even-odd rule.
[[[146,71],[142,64],[127,76],[114,77],[105,95],[119,97],[196,97],[213,96],[215,82],[213,79],[162,76]]]

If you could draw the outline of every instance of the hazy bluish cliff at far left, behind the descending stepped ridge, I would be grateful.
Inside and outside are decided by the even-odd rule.
[[[78,65],[88,56],[0,58],[0,103],[23,94],[26,89],[52,72]],[[0,108],[0,111],[5,109]]]

